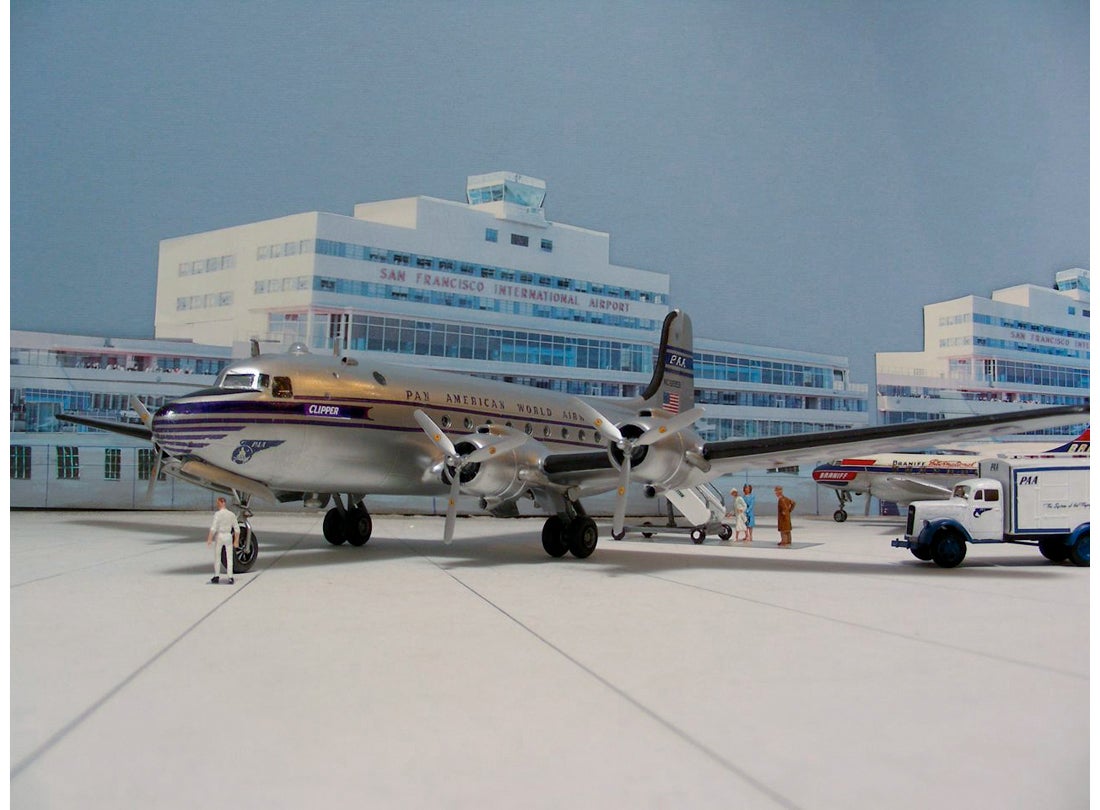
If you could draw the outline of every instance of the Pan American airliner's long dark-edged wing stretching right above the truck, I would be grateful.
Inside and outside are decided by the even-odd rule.
[[[700,469],[707,480],[741,470],[814,463],[853,453],[900,452],[945,441],[989,441],[1028,430],[1060,428],[1089,420],[1086,405],[964,416],[937,422],[792,434],[762,439],[727,439],[704,446]],[[551,453],[543,462],[547,478],[558,485],[598,491],[614,486],[616,470],[605,451]]]

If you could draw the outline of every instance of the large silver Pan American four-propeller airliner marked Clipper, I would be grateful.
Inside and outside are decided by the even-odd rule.
[[[459,494],[496,516],[529,497],[548,517],[542,546],[553,557],[588,557],[598,528],[586,496],[616,492],[612,536],[625,534],[627,488],[652,494],[702,488],[745,469],[809,463],[838,452],[875,452],[919,438],[988,440],[1021,430],[1087,422],[1086,406],[854,428],[766,439],[706,442],[694,430],[691,319],[664,319],[653,375],[634,401],[600,401],[374,358],[260,354],[227,366],[201,388],[150,413],[142,424],[76,414],[58,418],[152,441],[155,481],[167,474],[230,496],[242,526],[234,569],[249,570],[258,546],[248,518],[257,497],[324,507],[326,539],[371,538],[369,495],[447,495],[443,539],[454,533]]]

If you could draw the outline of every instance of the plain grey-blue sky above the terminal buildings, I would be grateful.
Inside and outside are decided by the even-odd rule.
[[[157,244],[547,180],[696,336],[916,350],[1089,259],[1089,6],[11,4],[11,325],[151,336]]]

